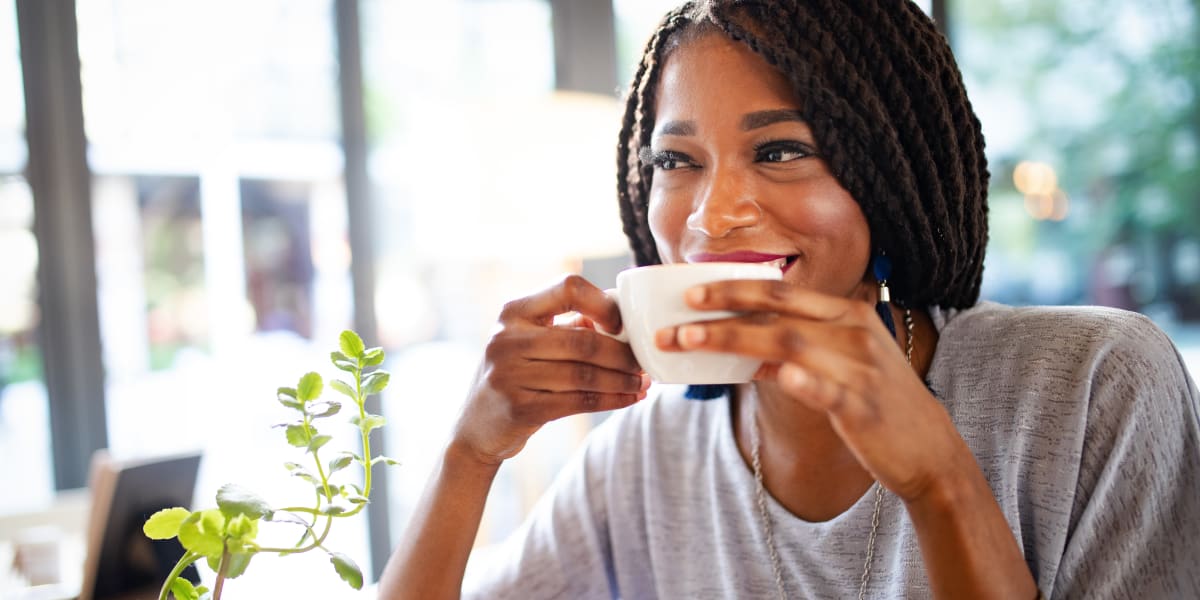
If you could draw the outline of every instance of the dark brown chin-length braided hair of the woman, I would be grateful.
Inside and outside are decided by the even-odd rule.
[[[791,83],[822,157],[892,258],[894,301],[967,307],[988,244],[983,133],[946,37],[910,0],[697,0],[668,12],[646,44],[617,145],[620,216],[638,265],[660,262],[650,234],[654,130],[671,52],[718,32]]]

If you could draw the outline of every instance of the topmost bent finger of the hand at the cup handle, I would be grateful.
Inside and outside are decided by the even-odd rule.
[[[571,311],[578,311],[599,323],[606,331],[620,331],[620,312],[617,310],[617,302],[578,275],[568,275],[550,288],[510,301],[500,311],[500,322],[526,320],[538,325],[550,325],[556,314]]]

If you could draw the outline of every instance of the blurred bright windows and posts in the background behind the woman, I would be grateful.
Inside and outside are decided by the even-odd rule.
[[[1200,372],[1200,2],[918,4],[988,140],[983,296],[1142,312]],[[0,0],[0,516],[85,486],[100,448],[202,450],[199,506],[304,496],[274,390],[332,374],[354,328],[388,352],[376,443],[403,466],[331,546],[374,580],[500,305],[628,264],[619,97],[673,5]],[[504,466],[481,545],[595,420]],[[305,560],[233,583],[342,593],[325,557],[282,575]]]

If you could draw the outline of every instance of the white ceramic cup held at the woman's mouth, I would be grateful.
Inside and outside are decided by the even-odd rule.
[[[749,382],[762,365],[761,360],[715,352],[662,352],[654,346],[654,332],[737,314],[689,308],[683,294],[692,286],[724,280],[779,280],[781,276],[778,266],[757,263],[689,263],[628,269],[617,275],[617,289],[608,290],[617,299],[624,324],[620,334],[612,337],[629,343],[637,362],[650,379],[659,383]]]

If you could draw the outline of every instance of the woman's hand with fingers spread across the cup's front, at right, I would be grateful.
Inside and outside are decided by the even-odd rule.
[[[961,474],[965,442],[870,304],[780,281],[709,283],[685,299],[744,314],[659,330],[659,348],[762,359],[760,379],[824,412],[863,468],[906,502]]]

